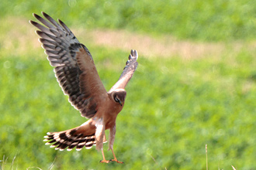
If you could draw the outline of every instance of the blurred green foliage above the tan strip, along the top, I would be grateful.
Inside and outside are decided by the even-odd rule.
[[[3,1],[0,15],[47,12],[67,24],[84,28],[129,29],[180,39],[230,41],[253,39],[256,34],[254,0],[164,0],[164,1]]]

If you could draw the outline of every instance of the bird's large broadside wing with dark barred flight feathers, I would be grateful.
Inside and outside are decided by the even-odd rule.
[[[44,26],[29,22],[40,29],[36,33],[41,37],[40,42],[43,43],[50,65],[55,67],[57,81],[74,108],[80,110],[81,116],[93,117],[106,89],[99,78],[92,55],[64,22],[58,20],[57,23],[46,13],[42,14],[48,21],[40,15],[33,15]]]

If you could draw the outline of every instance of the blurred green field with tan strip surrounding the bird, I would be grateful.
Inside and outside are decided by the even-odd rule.
[[[206,145],[209,169],[256,169],[254,0],[12,0],[0,9],[0,169],[206,169]],[[106,90],[137,49],[116,120],[114,149],[125,164],[100,164],[95,147],[44,145],[47,131],[86,119],[29,24],[41,11],[88,47]]]

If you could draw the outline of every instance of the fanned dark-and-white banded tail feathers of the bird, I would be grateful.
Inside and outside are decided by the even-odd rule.
[[[96,144],[95,134],[83,134],[78,133],[78,128],[74,128],[67,131],[48,132],[47,136],[44,136],[43,141],[47,141],[46,145],[50,145],[50,148],[63,151],[67,148],[67,151],[71,151],[74,147],[80,151],[81,148],[92,148],[92,145]]]

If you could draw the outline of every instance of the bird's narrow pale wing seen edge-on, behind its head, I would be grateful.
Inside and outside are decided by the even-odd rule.
[[[119,80],[115,83],[115,85],[109,90],[109,92],[115,89],[124,89],[126,87],[126,84],[132,78],[134,71],[137,69],[137,58],[137,50],[132,49],[130,51],[129,58],[126,61],[126,66],[123,68],[123,73],[121,74]]]

